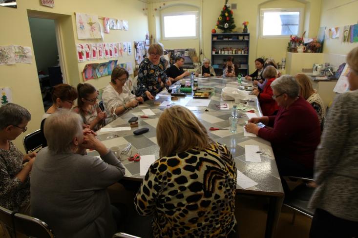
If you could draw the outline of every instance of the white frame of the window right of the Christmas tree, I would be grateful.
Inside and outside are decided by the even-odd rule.
[[[298,20],[298,33],[297,35],[300,36],[303,30],[303,19],[304,19],[304,8],[303,7],[295,7],[295,8],[261,8],[260,9],[260,38],[290,38],[290,35],[273,35],[273,36],[264,36],[263,35],[263,27],[264,27],[264,13],[265,12],[299,12],[299,20]]]

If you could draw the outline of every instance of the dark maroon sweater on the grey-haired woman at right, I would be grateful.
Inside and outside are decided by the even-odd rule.
[[[275,157],[288,157],[313,169],[316,147],[321,135],[315,109],[299,97],[288,109],[279,108],[269,117],[268,126],[258,136],[271,142]]]

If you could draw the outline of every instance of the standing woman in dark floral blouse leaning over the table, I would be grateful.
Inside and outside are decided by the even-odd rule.
[[[137,97],[153,100],[155,95],[162,91],[171,81],[165,72],[165,59],[161,58],[163,48],[160,44],[151,44],[148,48],[148,57],[139,65]]]

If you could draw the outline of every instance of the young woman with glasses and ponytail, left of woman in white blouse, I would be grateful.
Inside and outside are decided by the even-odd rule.
[[[77,92],[77,106],[73,111],[81,115],[84,124],[89,125],[91,130],[99,130],[104,125],[105,112],[98,106],[96,88],[89,83],[79,83]]]

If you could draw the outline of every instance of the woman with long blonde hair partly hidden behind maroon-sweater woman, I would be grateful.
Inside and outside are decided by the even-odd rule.
[[[313,89],[310,78],[305,74],[296,74],[295,78],[300,87],[299,95],[313,106],[317,113],[319,123],[322,124],[326,110],[321,97],[319,97],[319,94]]]

